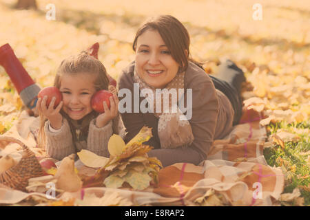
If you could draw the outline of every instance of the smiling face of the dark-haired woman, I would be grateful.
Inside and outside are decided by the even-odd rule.
[[[136,72],[147,85],[164,88],[178,73],[178,63],[156,30],[146,30],[136,41]]]

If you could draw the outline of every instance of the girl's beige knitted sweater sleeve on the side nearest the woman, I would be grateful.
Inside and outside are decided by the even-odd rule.
[[[103,126],[98,128],[95,124],[95,119],[90,122],[90,129],[87,137],[87,150],[96,153],[96,155],[103,157],[110,157],[109,151],[107,151],[107,143],[113,134],[113,122],[112,120]]]

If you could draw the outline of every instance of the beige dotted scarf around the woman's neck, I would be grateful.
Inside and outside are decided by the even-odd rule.
[[[169,89],[176,89],[178,97],[176,101],[178,102],[180,98],[183,98],[179,97],[178,91],[179,89],[183,89],[184,91],[184,76],[185,72],[178,72],[172,81],[168,83],[164,89],[161,89],[159,96],[161,98],[159,98],[158,94],[156,95],[156,88],[147,85],[147,83],[138,76],[136,69],[134,70],[134,82],[138,83],[141,94],[145,96],[148,104],[154,104],[154,115],[158,118],[158,137],[161,142],[161,148],[189,146],[194,140],[192,126],[178,108],[177,103],[173,103],[172,96],[169,96]],[[145,89],[152,89],[154,96],[145,94],[145,92],[143,92]],[[164,100],[164,97],[169,98],[165,98]],[[161,107],[160,112],[156,112],[156,106],[157,109],[158,106]],[[175,108],[176,111],[173,111],[173,108]],[[180,120],[180,118],[182,120]]]

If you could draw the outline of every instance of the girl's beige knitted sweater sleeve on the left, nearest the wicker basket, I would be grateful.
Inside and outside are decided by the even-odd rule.
[[[75,153],[68,121],[63,119],[63,125],[57,133],[50,131],[49,124],[50,122],[46,121],[44,125],[44,131],[46,135],[46,153],[48,153],[50,157],[59,160],[72,153]]]

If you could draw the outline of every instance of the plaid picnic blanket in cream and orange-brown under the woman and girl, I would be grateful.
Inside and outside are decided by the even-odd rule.
[[[38,157],[44,157],[43,150],[36,147],[35,135],[30,132],[29,124],[35,120],[23,113],[5,135],[18,136]],[[214,140],[207,160],[199,166],[178,163],[161,169],[156,186],[133,190],[94,184],[79,192],[64,192],[56,200],[83,200],[87,195],[101,198],[116,193],[127,201],[125,204],[134,206],[273,206],[280,199],[285,177],[280,168],[268,166],[265,161],[263,149],[267,134],[260,120],[262,113],[245,108],[240,124],[223,140]],[[18,159],[19,150],[10,144],[0,155],[10,153]],[[0,203],[18,203],[33,195],[45,197],[43,193],[21,192],[0,185]]]

